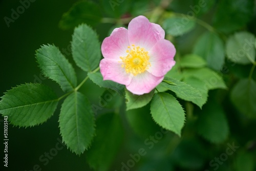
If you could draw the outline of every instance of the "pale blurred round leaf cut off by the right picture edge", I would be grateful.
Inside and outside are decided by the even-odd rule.
[[[255,60],[255,37],[249,32],[238,32],[230,36],[226,44],[227,57],[239,64],[253,63]]]

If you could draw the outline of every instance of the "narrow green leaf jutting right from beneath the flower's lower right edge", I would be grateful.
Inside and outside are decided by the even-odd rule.
[[[181,99],[193,99],[193,98],[202,98],[202,95],[199,91],[197,91],[195,88],[191,87],[190,85],[186,84],[185,82],[178,81],[177,79],[164,77],[165,81],[171,81],[174,82],[174,84],[168,84],[166,82],[161,82],[161,86],[169,89],[170,91],[173,91],[176,93],[177,97]]]

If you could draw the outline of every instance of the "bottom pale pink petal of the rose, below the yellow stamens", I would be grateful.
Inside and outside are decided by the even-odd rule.
[[[163,80],[164,76],[156,77],[145,71],[133,77],[131,83],[126,86],[126,89],[133,94],[142,95],[150,93]]]

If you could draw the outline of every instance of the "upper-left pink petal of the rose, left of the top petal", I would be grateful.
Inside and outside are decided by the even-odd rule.
[[[104,58],[120,59],[126,56],[127,47],[130,46],[127,29],[120,27],[113,30],[109,37],[106,37],[101,45],[101,52]]]

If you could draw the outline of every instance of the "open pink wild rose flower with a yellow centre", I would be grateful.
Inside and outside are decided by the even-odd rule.
[[[150,93],[175,65],[176,49],[164,35],[145,16],[133,18],[128,29],[114,29],[101,45],[103,80],[124,84],[136,95]]]

